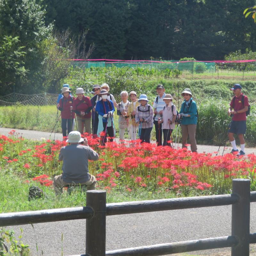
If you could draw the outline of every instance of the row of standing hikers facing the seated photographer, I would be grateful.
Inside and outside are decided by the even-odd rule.
[[[125,130],[129,134],[131,141],[137,138],[142,142],[150,143],[150,135],[155,126],[157,146],[170,146],[172,141],[172,131],[175,124],[180,124],[182,133],[182,148],[187,148],[189,137],[192,152],[197,152],[196,145],[196,124],[198,112],[196,102],[192,98],[189,88],[181,92],[184,101],[182,102],[180,113],[173,104],[172,95],[166,94],[164,86],[156,86],[157,96],[153,106],[148,104],[146,94],[138,97],[134,91],[122,91],[120,93],[121,102],[117,103],[114,96],[109,93],[108,84],[95,84],[92,88],[94,96],[90,99],[84,96],[84,89],[76,89],[76,98],[71,95],[68,84],[64,84],[57,101],[57,108],[61,111],[61,128],[63,137],[74,130],[74,119],[76,115],[77,130],[83,134],[93,134],[101,138],[102,145],[107,138],[113,141],[116,136],[113,114],[116,108],[119,125],[120,143],[124,143]],[[244,155],[244,134],[246,130],[246,111],[249,102],[247,96],[241,92],[241,85],[235,84],[232,90],[233,97],[228,114],[232,116],[229,125],[228,138],[233,147],[232,153]],[[130,101],[129,101],[130,100]],[[238,135],[241,150],[238,152],[234,133]],[[162,140],[163,139],[163,140]]]

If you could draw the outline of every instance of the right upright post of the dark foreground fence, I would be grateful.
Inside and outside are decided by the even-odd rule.
[[[231,247],[231,256],[249,256],[250,235],[250,180],[234,179],[233,194],[240,197],[232,204],[231,235],[236,236],[239,243]]]

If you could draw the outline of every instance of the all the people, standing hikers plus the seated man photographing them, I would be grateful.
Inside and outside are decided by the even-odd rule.
[[[232,121],[228,127],[228,138],[232,145],[232,153],[238,153],[234,134],[237,134],[241,150],[238,156],[244,155],[244,134],[246,130],[246,116],[249,114],[250,105],[247,96],[241,92],[241,85],[235,84],[230,90],[235,96],[230,102],[228,114],[232,116]],[[184,89],[181,95],[184,98],[180,113],[172,102],[172,95],[166,94],[164,86],[156,86],[158,96],[153,103],[153,108],[148,104],[147,95],[141,94],[139,99],[137,93],[132,91],[121,92],[120,103],[112,94],[109,93],[108,84],[93,86],[92,93],[95,95],[90,100],[84,96],[82,88],[76,89],[76,98],[71,95],[68,84],[64,84],[62,93],[58,99],[57,108],[61,111],[61,127],[64,137],[68,134],[68,146],[61,148],[59,160],[63,161],[61,175],[55,176],[53,187],[56,195],[63,192],[63,187],[70,185],[85,185],[87,190],[95,189],[96,178],[89,173],[88,160],[97,160],[99,155],[89,147],[86,138],[81,138],[81,133],[91,133],[101,135],[102,144],[110,137],[113,141],[115,136],[115,126],[113,122],[113,113],[117,109],[119,116],[119,135],[121,143],[124,141],[125,129],[128,129],[131,140],[136,140],[137,130],[141,142],[150,143],[150,133],[155,125],[157,145],[171,146],[170,139],[175,123],[179,123],[182,130],[182,148],[187,148],[187,139],[189,136],[190,147],[192,152],[197,152],[196,146],[196,124],[197,124],[197,107],[196,102],[192,99],[190,89]],[[130,101],[128,97],[130,96]],[[74,118],[76,114],[77,130],[72,131]],[[67,133],[68,130],[68,133]],[[162,134],[164,142],[162,143]],[[74,165],[75,163],[75,165]]]

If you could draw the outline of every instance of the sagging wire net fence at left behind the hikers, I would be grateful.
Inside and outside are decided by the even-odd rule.
[[[14,106],[14,105],[31,105],[31,106],[46,106],[46,105],[56,105],[59,94],[54,93],[40,93],[40,94],[20,94],[20,93],[10,93],[0,97],[0,107]],[[93,95],[87,95],[92,98]],[[120,95],[114,95],[117,103],[121,102]]]

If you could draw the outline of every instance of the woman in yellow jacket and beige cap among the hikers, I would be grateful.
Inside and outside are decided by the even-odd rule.
[[[131,102],[128,106],[128,116],[129,116],[129,132],[131,140],[136,140],[136,133],[138,129],[138,124],[135,122],[136,108],[140,106],[140,102],[137,99],[137,93],[132,91],[129,93]]]

